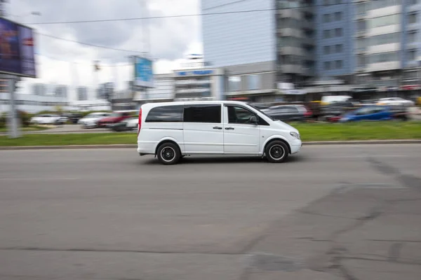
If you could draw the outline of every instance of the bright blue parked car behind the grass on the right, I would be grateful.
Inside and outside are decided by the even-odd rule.
[[[340,122],[359,120],[392,120],[394,113],[387,106],[364,106],[355,111],[346,113]]]

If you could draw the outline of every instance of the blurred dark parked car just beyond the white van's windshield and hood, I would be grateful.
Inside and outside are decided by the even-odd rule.
[[[302,121],[312,116],[312,111],[304,105],[279,105],[261,111],[267,113],[274,120],[283,121]]]

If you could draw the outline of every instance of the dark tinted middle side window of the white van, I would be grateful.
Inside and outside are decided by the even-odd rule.
[[[220,104],[185,105],[185,123],[221,123]]]

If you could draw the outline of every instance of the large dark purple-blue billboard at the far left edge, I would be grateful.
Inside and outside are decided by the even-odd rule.
[[[0,73],[36,78],[34,31],[0,18]]]

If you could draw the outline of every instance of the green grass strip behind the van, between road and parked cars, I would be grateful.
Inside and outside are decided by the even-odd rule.
[[[421,122],[293,123],[302,141],[421,139]],[[136,144],[135,133],[24,134],[0,137],[0,146]]]

